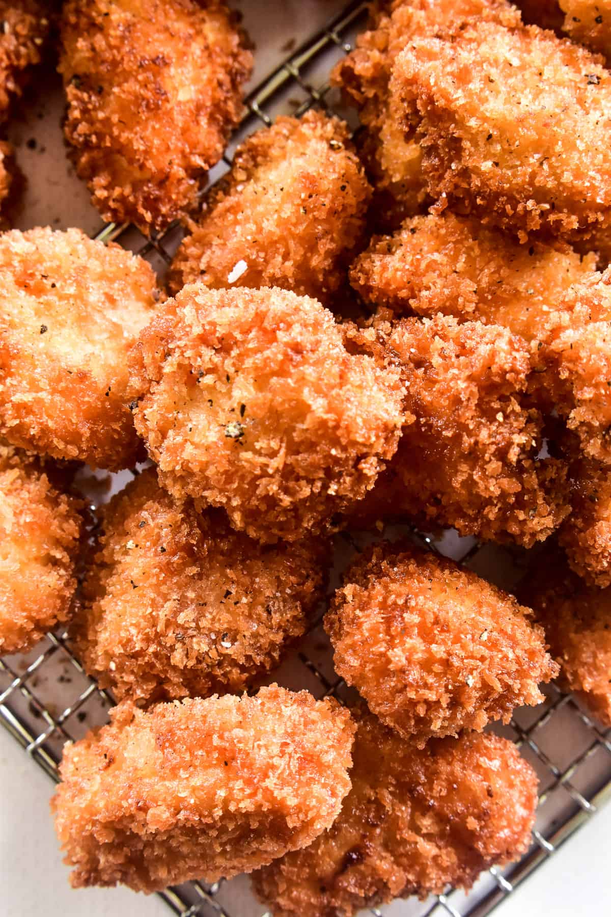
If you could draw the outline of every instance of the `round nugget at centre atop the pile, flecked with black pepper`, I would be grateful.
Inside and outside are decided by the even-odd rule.
[[[398,370],[348,353],[305,296],[192,283],[144,329],[132,367],[162,486],[262,541],[333,525],[397,448]]]

